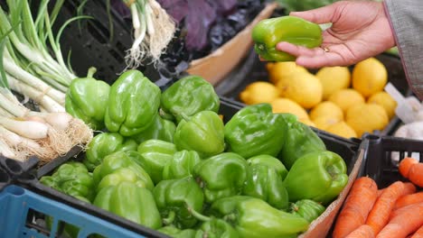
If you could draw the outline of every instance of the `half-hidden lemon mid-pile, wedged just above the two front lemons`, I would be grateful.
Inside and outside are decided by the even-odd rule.
[[[353,88],[343,88],[334,92],[334,94],[329,97],[329,101],[341,107],[341,109],[343,109],[343,113],[345,113],[352,105],[363,104],[366,102],[364,97]]]

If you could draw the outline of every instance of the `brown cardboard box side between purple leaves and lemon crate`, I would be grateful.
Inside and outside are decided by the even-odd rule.
[[[223,44],[221,48],[214,50],[210,55],[193,60],[186,71],[191,75],[205,78],[212,85],[219,83],[232,69],[235,69],[253,46],[251,38],[253,27],[259,21],[267,19],[276,8],[277,3],[267,4],[244,30]]]

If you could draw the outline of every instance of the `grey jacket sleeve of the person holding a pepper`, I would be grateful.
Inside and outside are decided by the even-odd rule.
[[[409,86],[423,100],[423,1],[384,0]]]

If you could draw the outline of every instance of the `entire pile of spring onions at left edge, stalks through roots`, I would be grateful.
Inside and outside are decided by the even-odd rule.
[[[68,20],[54,36],[52,24],[64,0],[55,1],[52,14],[49,0],[39,1],[35,18],[27,0],[6,3],[9,13],[0,8],[0,154],[16,160],[35,155],[43,163],[74,146],[85,149],[91,129],[64,109],[65,92],[77,77],[59,40],[67,24],[87,17]],[[11,89],[33,99],[41,112],[24,107]]]

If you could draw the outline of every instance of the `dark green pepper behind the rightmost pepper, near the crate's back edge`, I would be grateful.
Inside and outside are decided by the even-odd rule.
[[[296,160],[305,154],[325,150],[324,142],[310,126],[296,122],[288,125],[286,142],[277,158],[291,169]]]

